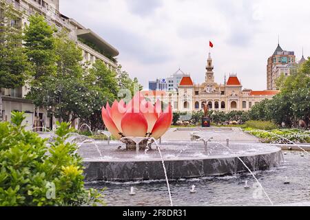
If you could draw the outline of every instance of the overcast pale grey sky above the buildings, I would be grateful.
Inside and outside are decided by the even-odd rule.
[[[60,10],[114,45],[144,89],[179,67],[203,83],[209,40],[216,82],[236,73],[249,89],[266,89],[278,35],[298,60],[302,47],[310,55],[307,0],[60,0]]]

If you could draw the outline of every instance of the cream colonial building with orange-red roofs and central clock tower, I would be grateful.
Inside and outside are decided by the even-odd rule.
[[[200,111],[205,104],[215,111],[249,111],[254,104],[271,99],[278,90],[253,91],[242,89],[236,74],[231,74],[224,84],[214,81],[214,65],[209,54],[207,58],[205,82],[194,84],[190,76],[183,76],[177,91],[143,91],[153,99],[171,103],[174,112]]]

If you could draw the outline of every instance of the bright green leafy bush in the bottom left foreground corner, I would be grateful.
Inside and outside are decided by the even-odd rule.
[[[25,131],[23,113],[0,123],[0,206],[82,206],[102,203],[96,190],[84,186],[76,145],[66,142],[70,124],[58,124],[49,145]]]

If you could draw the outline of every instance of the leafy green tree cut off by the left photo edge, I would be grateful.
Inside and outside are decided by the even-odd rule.
[[[29,76],[29,63],[24,54],[21,14],[12,5],[0,1],[0,121],[2,121],[1,88],[22,87]]]

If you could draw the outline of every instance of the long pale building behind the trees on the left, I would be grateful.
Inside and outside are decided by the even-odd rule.
[[[21,14],[19,20],[14,21],[17,27],[25,28],[29,24],[28,18],[32,14],[41,14],[49,25],[53,25],[58,30],[67,30],[70,39],[76,42],[83,53],[83,63],[94,63],[99,59],[110,69],[117,68],[115,57],[118,56],[118,50],[107,43],[101,36],[83,25],[70,19],[59,12],[59,0],[4,0],[10,3]],[[25,125],[27,129],[32,129],[35,121],[39,122],[36,126],[43,126],[53,129],[56,118],[50,117],[45,109],[35,108],[31,100],[26,100],[29,85],[17,89],[3,89],[0,92],[3,100],[2,120],[11,120],[11,111],[25,112]],[[79,120],[72,122],[74,126],[79,125]]]

